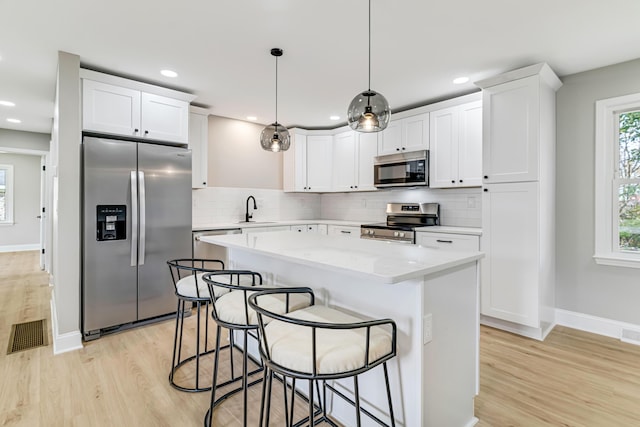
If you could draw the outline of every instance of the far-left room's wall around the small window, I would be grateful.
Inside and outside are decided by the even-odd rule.
[[[13,165],[13,224],[0,227],[2,246],[39,245],[40,156],[1,154],[0,164]]]

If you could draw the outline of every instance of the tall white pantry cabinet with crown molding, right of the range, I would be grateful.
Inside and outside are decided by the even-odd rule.
[[[542,340],[555,306],[555,94],[547,64],[483,90],[481,322]]]

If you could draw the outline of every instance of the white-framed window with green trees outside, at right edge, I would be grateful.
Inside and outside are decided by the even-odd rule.
[[[596,103],[599,264],[640,268],[640,94]]]

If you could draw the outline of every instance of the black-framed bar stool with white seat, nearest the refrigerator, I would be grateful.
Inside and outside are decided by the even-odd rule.
[[[212,271],[224,270],[224,262],[216,259],[180,258],[167,261],[171,272],[171,279],[178,298],[178,308],[176,310],[176,329],[173,337],[173,356],[171,359],[171,371],[169,372],[169,383],[176,389],[186,392],[201,392],[211,390],[211,386],[201,387],[200,385],[200,358],[212,353],[214,350],[208,348],[209,318],[205,314],[205,341],[204,350],[200,351],[200,309],[204,304],[208,309],[211,297],[207,284],[202,281],[203,274]],[[221,290],[222,291],[222,290]],[[196,342],[195,354],[182,358],[183,352],[183,330],[184,318],[188,317],[195,304],[197,310]],[[205,310],[205,313],[208,310]],[[187,363],[195,361],[195,384],[179,385],[174,381],[175,373]]]

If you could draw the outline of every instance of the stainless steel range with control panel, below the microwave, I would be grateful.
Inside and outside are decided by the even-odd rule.
[[[387,222],[361,225],[360,238],[413,244],[415,229],[430,225],[440,225],[438,203],[387,203]]]

